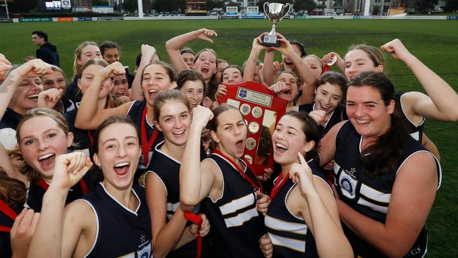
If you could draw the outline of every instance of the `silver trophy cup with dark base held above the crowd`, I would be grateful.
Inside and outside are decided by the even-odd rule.
[[[287,11],[286,10],[287,7]],[[262,44],[264,46],[268,47],[280,47],[280,44],[277,42],[277,35],[275,31],[275,25],[278,23],[280,20],[283,19],[289,13],[291,10],[291,4],[280,4],[280,3],[264,3],[264,13],[266,13],[266,16],[271,22],[273,23],[272,25],[272,30],[271,32],[268,32],[268,35],[264,36],[264,39],[262,41]]]

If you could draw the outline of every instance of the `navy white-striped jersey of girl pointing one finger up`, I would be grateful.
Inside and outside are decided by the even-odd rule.
[[[319,171],[316,163],[307,162],[314,176],[326,183],[326,178]],[[277,178],[276,180],[280,180]],[[287,207],[287,197],[297,183],[287,178],[285,185],[269,204],[264,223],[273,244],[273,257],[318,257],[314,236],[309,231],[304,219],[291,214]],[[326,183],[328,185],[328,183]],[[332,190],[330,189],[332,192]]]

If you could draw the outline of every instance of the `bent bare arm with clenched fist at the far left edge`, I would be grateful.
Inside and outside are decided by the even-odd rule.
[[[1,56],[0,69],[3,70],[11,68],[11,65],[8,64],[8,60],[4,59],[4,57]],[[3,73],[2,70],[0,70],[0,74]],[[44,63],[44,61],[40,59],[33,59],[31,61],[27,61],[27,63],[24,63],[22,66],[19,66],[18,68],[8,73],[8,76],[0,85],[0,117],[3,117],[6,108],[8,107],[8,104],[11,101],[11,97],[13,97],[13,94],[18,88],[19,83],[24,78],[28,76],[39,77],[41,75],[46,75],[50,73],[52,73],[51,65],[49,65],[48,63]]]

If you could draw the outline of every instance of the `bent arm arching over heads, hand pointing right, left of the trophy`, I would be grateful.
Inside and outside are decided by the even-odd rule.
[[[192,42],[194,39],[202,39],[213,43],[213,40],[210,38],[213,36],[218,36],[213,30],[199,29],[179,35],[173,39],[168,39],[166,42],[166,51],[175,72],[180,73],[182,70],[190,69],[181,57],[181,47],[185,46],[188,42]]]

